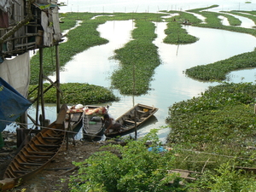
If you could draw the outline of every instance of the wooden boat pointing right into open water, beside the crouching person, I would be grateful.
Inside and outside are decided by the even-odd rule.
[[[133,131],[135,126],[138,128],[140,125],[143,125],[143,123],[152,117],[157,111],[158,108],[138,103],[115,120],[117,123],[122,125],[122,130],[114,131],[110,129],[107,137],[116,137],[124,135],[128,131]]]

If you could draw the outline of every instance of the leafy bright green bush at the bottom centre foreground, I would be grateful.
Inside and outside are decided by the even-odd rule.
[[[156,132],[152,130],[141,140],[127,140],[125,147],[113,145],[111,150],[74,163],[79,166],[79,175],[71,177],[71,191],[185,191],[179,184],[180,177],[167,172],[173,168],[175,155],[172,151],[158,153]],[[148,141],[153,143],[152,151],[145,145]]]

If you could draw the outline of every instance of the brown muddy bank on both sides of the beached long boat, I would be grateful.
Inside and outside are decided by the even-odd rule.
[[[11,134],[11,133],[9,133]],[[4,136],[3,136],[4,137]],[[6,140],[8,138],[8,140]],[[4,138],[4,147],[0,151],[0,177],[9,162],[17,152],[14,136]],[[10,139],[12,138],[12,139]],[[80,162],[89,158],[91,154],[97,151],[108,150],[108,148],[101,148],[103,145],[108,145],[110,142],[85,142],[85,141],[70,141],[71,143],[64,143],[61,151],[56,155],[55,159],[45,167],[42,172],[38,172],[31,180],[25,183],[20,183],[14,189],[9,191],[26,191],[26,192],[66,192],[68,189],[68,179],[71,175],[75,175],[78,169],[73,166],[73,161]],[[113,143],[113,142],[111,142]],[[1,180],[1,179],[0,179]]]

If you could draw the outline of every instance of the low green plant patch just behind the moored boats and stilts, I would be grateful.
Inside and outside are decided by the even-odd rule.
[[[29,91],[32,91],[36,85],[31,85]],[[49,87],[49,84],[44,84],[44,90]],[[67,83],[61,84],[61,103],[67,103],[70,105],[81,103],[83,105],[90,105],[102,102],[114,102],[119,101],[119,98],[113,95],[111,90],[108,90],[102,86],[93,84],[79,84],[79,83]],[[35,99],[38,96],[38,91],[32,92],[28,99]],[[55,103],[56,102],[56,90],[50,89],[44,94],[44,102]]]

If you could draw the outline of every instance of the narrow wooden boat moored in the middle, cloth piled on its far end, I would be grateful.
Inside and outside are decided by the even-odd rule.
[[[104,132],[102,117],[108,113],[108,107],[85,106],[83,114],[84,138],[100,140]]]

